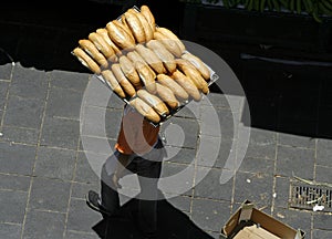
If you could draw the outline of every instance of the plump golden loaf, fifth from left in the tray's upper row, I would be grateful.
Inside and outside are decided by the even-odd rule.
[[[120,27],[122,25],[122,27]],[[113,20],[106,24],[111,40],[121,50],[131,50],[135,46],[135,39],[123,28],[124,25],[117,20]]]

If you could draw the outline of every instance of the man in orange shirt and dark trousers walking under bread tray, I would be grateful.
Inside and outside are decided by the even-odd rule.
[[[157,181],[165,156],[159,126],[151,124],[134,107],[125,104],[115,152],[102,167],[101,194],[90,190],[86,204],[104,218],[115,216],[120,209],[118,179],[136,174],[141,194],[135,219],[146,238],[157,238]]]

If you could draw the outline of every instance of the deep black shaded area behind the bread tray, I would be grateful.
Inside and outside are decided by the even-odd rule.
[[[133,4],[147,4],[157,24],[209,48],[231,66],[252,126],[332,136],[331,19],[319,24],[310,17],[197,8],[177,0],[105,1],[7,3],[0,10],[0,63],[10,56],[25,67],[87,72],[71,55],[77,41]],[[220,92],[216,85],[212,91]]]

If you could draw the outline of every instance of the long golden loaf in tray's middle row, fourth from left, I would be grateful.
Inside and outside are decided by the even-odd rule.
[[[157,92],[156,90],[156,73],[149,67],[149,65],[144,61],[144,59],[136,52],[131,51],[127,53],[128,59],[134,63],[135,69],[142,80],[146,90],[153,94]]]

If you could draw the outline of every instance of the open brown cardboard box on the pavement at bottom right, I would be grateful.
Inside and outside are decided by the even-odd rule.
[[[300,229],[277,220],[248,200],[229,218],[221,233],[227,239],[303,239]]]

